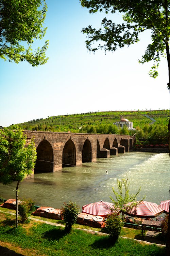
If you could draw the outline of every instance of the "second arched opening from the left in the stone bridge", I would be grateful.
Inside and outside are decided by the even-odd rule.
[[[76,164],[75,145],[72,140],[68,140],[63,148],[63,167],[71,167]]]

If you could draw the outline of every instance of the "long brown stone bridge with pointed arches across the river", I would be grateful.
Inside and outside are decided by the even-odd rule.
[[[34,172],[55,172],[62,167],[94,162],[97,157],[129,152],[134,137],[119,134],[89,134],[24,131],[27,143],[34,138],[37,159]],[[32,177],[34,176],[34,172]]]

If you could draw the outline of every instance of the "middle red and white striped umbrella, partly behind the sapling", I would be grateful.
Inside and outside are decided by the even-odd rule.
[[[147,201],[141,201],[134,207],[132,207],[131,204],[132,203],[126,204],[125,214],[129,216],[141,217],[141,218],[154,218],[160,215],[161,213],[163,213],[164,211],[156,203],[151,203]]]

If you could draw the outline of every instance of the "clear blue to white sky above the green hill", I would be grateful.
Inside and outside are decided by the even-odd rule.
[[[48,29],[39,46],[49,40],[48,62],[33,68],[0,59],[0,126],[89,111],[169,109],[167,60],[156,79],[148,75],[152,63],[138,63],[149,33],[129,48],[89,53],[81,30],[99,27],[105,14],[89,14],[79,0],[46,3]]]

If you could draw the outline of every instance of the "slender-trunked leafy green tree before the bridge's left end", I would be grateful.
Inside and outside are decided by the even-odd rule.
[[[18,187],[20,181],[32,174],[35,166],[36,148],[34,141],[27,145],[26,136],[14,125],[0,130],[0,182],[4,185],[17,181],[16,185],[16,228],[18,227]]]

